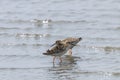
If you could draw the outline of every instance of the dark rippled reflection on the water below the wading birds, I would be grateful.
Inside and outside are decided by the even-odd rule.
[[[65,55],[62,59],[62,63],[53,63],[53,67],[49,69],[51,78],[56,80],[73,80],[72,72],[77,69],[77,61],[81,58]]]

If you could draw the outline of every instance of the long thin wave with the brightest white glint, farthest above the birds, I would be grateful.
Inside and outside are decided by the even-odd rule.
[[[64,23],[91,23],[87,20],[52,20],[52,19],[31,19],[31,20],[22,20],[22,19],[0,19],[0,21],[7,23],[37,23],[37,24],[64,24]]]

